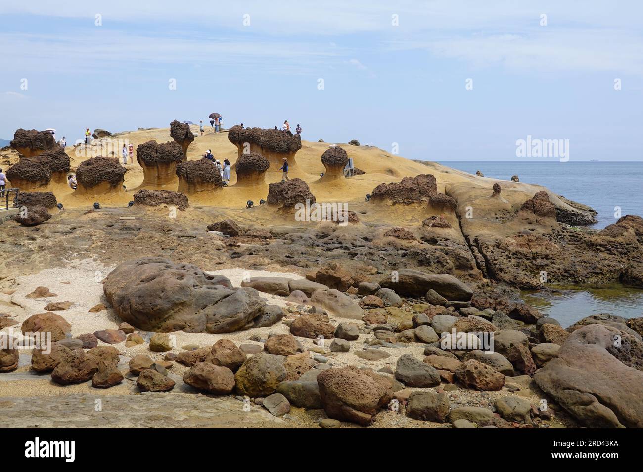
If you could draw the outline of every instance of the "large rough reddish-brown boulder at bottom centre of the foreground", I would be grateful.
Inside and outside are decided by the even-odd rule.
[[[317,376],[320,398],[329,417],[367,425],[393,398],[384,376],[357,367],[329,369]]]

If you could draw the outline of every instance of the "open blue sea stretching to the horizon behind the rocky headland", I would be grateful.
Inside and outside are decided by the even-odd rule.
[[[539,184],[574,202],[595,209],[604,228],[616,220],[614,207],[625,214],[643,216],[643,162],[440,162],[485,177]]]

